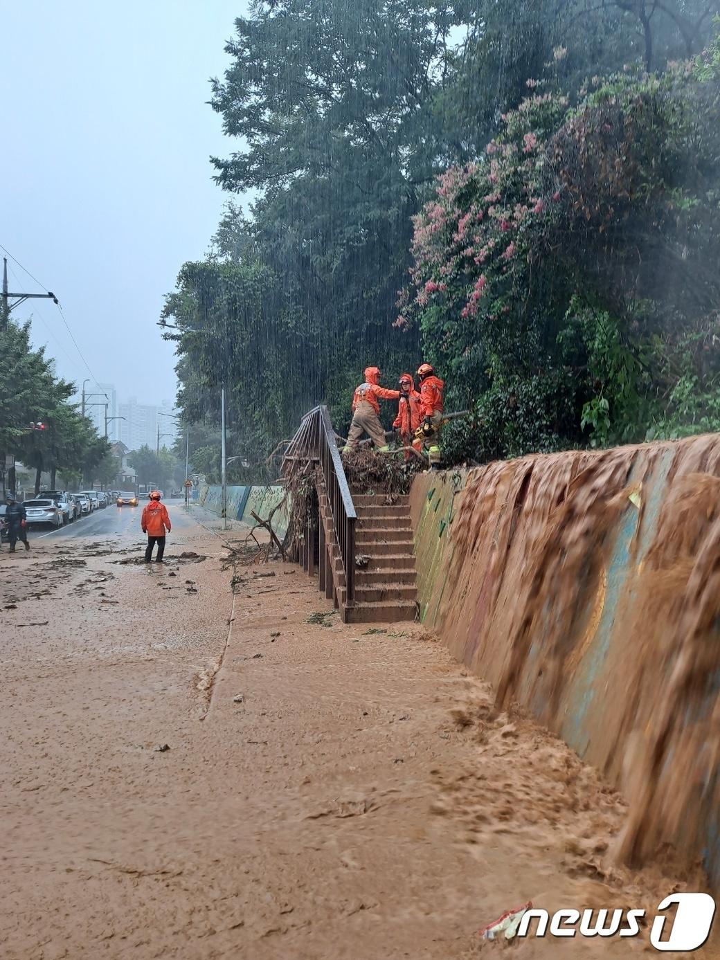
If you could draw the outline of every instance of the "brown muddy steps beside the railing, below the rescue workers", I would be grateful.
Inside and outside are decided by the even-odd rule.
[[[415,583],[410,497],[395,494],[352,493],[357,514],[355,554],[367,565],[355,565],[355,605],[350,623],[415,620],[418,591]],[[345,590],[338,597],[345,603]]]

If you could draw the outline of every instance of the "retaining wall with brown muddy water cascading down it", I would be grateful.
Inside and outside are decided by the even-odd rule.
[[[720,435],[426,473],[420,615],[720,889]]]

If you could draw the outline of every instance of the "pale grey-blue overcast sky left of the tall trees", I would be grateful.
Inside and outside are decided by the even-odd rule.
[[[246,11],[244,0],[3,5],[0,244],[56,293],[92,376],[118,399],[175,397],[156,321],[228,200],[209,156],[233,148],[205,101]],[[12,292],[36,292],[9,266]],[[36,345],[80,384],[90,373],[57,307],[31,302],[13,318],[32,314]]]

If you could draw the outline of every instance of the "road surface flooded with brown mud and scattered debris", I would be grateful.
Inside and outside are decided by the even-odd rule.
[[[343,625],[291,565],[223,569],[191,519],[164,567],[138,556],[0,558],[5,960],[469,958],[526,900],[673,888],[610,865],[619,799],[420,626]]]

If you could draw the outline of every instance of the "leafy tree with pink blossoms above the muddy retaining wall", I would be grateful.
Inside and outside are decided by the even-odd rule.
[[[700,382],[720,371],[707,62],[594,78],[576,108],[532,84],[484,155],[437,179],[396,325],[419,325],[454,402],[475,403],[478,458],[651,435],[673,377],[697,378],[681,368],[701,330]]]

